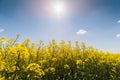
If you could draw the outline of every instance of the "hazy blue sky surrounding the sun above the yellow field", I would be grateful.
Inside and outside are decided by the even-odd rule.
[[[51,5],[64,4],[57,16]],[[0,36],[85,42],[120,52],[120,0],[0,0]]]

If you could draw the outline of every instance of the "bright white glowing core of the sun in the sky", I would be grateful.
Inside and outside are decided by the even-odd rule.
[[[54,3],[52,6],[52,11],[54,15],[57,15],[57,16],[63,16],[65,14],[65,9],[66,7],[62,2]]]

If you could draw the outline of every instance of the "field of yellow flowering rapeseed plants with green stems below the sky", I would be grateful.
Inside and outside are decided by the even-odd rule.
[[[55,40],[0,38],[0,80],[120,80],[120,54]]]

